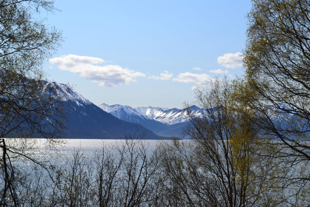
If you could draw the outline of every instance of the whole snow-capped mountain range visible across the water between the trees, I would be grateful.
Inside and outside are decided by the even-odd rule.
[[[115,139],[126,134],[145,133],[146,139],[181,137],[182,127],[188,125],[184,110],[164,107],[136,107],[101,104],[96,106],[81,94],[62,83],[51,82],[52,88],[65,94],[68,128],[64,138]],[[194,115],[203,109],[191,106]],[[186,138],[186,137],[185,137]]]

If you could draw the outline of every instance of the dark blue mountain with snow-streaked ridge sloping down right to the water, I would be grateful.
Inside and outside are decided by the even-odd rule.
[[[146,139],[160,138],[140,124],[123,121],[105,112],[65,84],[48,84],[56,92],[64,94],[64,101],[67,102],[66,111],[70,120],[68,129],[64,131],[65,138],[115,139],[124,138],[125,133],[133,134],[137,130],[146,132]]]

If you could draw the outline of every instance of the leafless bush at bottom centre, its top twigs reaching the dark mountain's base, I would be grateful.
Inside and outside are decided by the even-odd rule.
[[[111,152],[114,151],[116,156],[111,159],[116,162],[108,165],[112,167],[112,171],[107,168],[107,176],[99,177],[108,182],[108,188],[101,191],[104,194],[99,195],[99,198],[106,198],[101,199],[105,203],[104,206],[152,205],[158,199],[160,194],[156,191],[158,189],[154,183],[158,161],[145,145],[143,137],[144,134],[139,133],[127,135],[127,139],[112,149]],[[111,157],[111,154],[109,156]]]

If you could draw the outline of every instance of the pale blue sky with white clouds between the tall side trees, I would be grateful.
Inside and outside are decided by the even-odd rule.
[[[245,1],[55,0],[62,47],[43,69],[95,105],[181,109],[194,88],[242,75]],[[43,16],[43,15],[42,15]]]

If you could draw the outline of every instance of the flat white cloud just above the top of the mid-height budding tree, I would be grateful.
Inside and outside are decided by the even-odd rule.
[[[180,73],[177,75],[176,78],[173,78],[172,81],[176,82],[182,82],[182,83],[196,83],[197,85],[205,86],[209,84],[211,81],[215,79],[211,78],[210,75],[203,73],[203,74],[197,74],[197,73]]]

